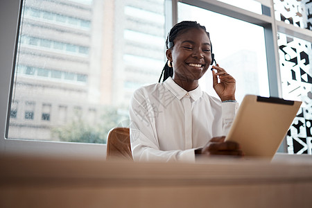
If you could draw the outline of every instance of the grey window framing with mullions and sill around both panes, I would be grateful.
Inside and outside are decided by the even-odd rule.
[[[312,42],[312,31],[288,25],[282,21],[275,20],[273,0],[257,0],[262,3],[264,13],[259,15],[248,10],[243,10],[227,3],[216,0],[165,0],[165,30],[166,33],[177,23],[177,3],[187,3],[218,12],[229,17],[248,21],[265,28],[266,54],[268,59],[268,78],[270,96],[281,97],[281,78],[279,73],[279,53],[277,46],[277,33],[285,33],[300,39]],[[268,3],[270,2],[270,3]],[[17,35],[21,21],[22,0],[3,0],[0,7],[0,154],[17,153],[26,155],[49,155],[54,157],[105,157],[105,144],[80,144],[55,141],[30,141],[7,139],[10,106],[11,83],[14,78],[12,70],[15,68],[15,51],[17,50]],[[266,4],[266,5],[264,5]],[[12,35],[15,34],[15,35]],[[284,149],[286,151],[286,148]]]

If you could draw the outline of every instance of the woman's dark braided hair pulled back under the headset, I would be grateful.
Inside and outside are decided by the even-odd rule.
[[[171,28],[170,32],[168,33],[167,39],[166,39],[166,49],[171,49],[173,47],[173,41],[175,40],[175,38],[177,37],[177,35],[179,35],[180,33],[182,33],[182,31],[187,30],[189,28],[199,28],[204,30],[210,40],[210,35],[209,33],[206,31],[206,27],[205,26],[201,26],[200,24],[197,23],[197,21],[181,21],[177,24],[175,24],[175,26],[173,26],[173,28]],[[210,43],[211,45],[211,43]],[[211,46],[211,53],[212,53],[212,46]],[[160,80],[162,79],[162,75],[164,74],[164,79],[162,80],[163,82],[169,77],[173,77],[173,67],[171,64],[171,67],[168,66],[168,61],[166,61],[166,64],[164,65],[164,69],[162,69],[162,74],[159,77],[158,83],[160,83]],[[212,62],[213,60],[211,60]]]

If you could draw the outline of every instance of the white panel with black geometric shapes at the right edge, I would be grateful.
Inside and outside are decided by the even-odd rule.
[[[312,30],[311,0],[274,0],[275,18]],[[288,153],[312,155],[312,50],[311,42],[278,33],[279,64],[284,99],[300,100],[287,132]]]

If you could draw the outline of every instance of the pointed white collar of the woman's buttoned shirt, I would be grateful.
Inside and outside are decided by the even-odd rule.
[[[164,87],[166,87],[166,89],[168,89],[179,100],[181,100],[187,93],[189,93],[189,96],[191,96],[194,101],[197,101],[198,98],[202,96],[202,89],[200,89],[199,85],[196,89],[187,92],[185,89],[177,85],[171,77],[168,77],[164,81]]]

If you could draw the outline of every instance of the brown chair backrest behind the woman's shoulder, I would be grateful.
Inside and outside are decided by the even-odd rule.
[[[129,128],[116,127],[110,130],[107,136],[106,159],[132,160]]]

